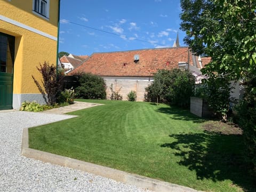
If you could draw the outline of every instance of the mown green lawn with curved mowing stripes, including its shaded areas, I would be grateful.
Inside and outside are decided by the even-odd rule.
[[[255,191],[242,136],[206,132],[203,119],[160,104],[103,106],[29,129],[29,147],[204,191]]]

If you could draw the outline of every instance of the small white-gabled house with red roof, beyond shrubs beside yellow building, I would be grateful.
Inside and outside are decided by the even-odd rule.
[[[69,54],[68,56],[64,55],[60,58],[60,62],[62,64],[63,69],[68,73],[71,70],[74,70],[77,66],[79,66],[86,58],[87,55],[73,55]]]

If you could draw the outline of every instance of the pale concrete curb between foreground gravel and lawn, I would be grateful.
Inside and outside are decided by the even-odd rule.
[[[22,135],[22,145],[21,145],[21,155],[34,158],[42,162],[57,164],[64,167],[69,167],[71,169],[81,170],[84,172],[89,172],[95,175],[101,175],[109,179],[113,179],[119,182],[134,185],[140,188],[145,188],[152,191],[163,191],[163,192],[196,192],[197,190],[188,187],[183,187],[175,185],[168,182],[159,181],[156,179],[151,179],[143,177],[136,174],[126,173],[124,171],[115,170],[109,167],[96,165],[92,163],[87,163],[79,161],[77,159],[63,157],[60,155],[55,155],[47,153],[44,151],[39,151],[29,148],[28,140],[28,128],[23,129]]]

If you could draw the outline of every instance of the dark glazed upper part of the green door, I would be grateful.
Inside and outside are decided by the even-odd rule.
[[[0,33],[0,72],[13,73],[14,37]]]

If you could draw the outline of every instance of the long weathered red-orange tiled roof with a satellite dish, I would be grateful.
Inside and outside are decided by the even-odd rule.
[[[135,54],[139,55],[137,63],[134,62]],[[153,76],[158,69],[178,68],[179,62],[188,62],[188,47],[93,53],[70,74],[85,72],[99,76]],[[193,63],[191,57],[189,63]]]

